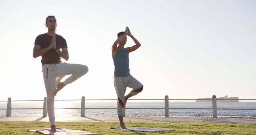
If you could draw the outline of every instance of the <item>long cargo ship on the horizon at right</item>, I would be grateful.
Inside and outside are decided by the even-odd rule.
[[[217,97],[217,102],[231,102],[231,103],[238,103],[238,97],[228,97],[226,95],[225,97]],[[204,98],[198,98],[196,99],[196,102],[212,102],[211,97],[204,97]]]

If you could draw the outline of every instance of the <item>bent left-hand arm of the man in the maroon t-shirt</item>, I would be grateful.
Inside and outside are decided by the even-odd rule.
[[[51,50],[54,47],[54,44],[56,44],[55,37],[52,38],[50,46],[48,46],[47,48],[41,49],[41,46],[35,45],[34,48],[33,48],[33,57],[37,58],[39,56],[42,56],[43,54],[45,54],[46,52]]]

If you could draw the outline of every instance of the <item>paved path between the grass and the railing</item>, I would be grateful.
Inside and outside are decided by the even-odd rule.
[[[88,117],[55,117],[56,121],[90,121],[90,122],[109,122],[119,121],[118,117],[88,116]],[[49,121],[48,117],[37,116],[0,116],[0,121]],[[124,121],[151,121],[151,122],[170,122],[170,123],[194,123],[194,122],[213,122],[213,123],[256,123],[256,119],[239,118],[200,118],[200,117],[124,117]]]

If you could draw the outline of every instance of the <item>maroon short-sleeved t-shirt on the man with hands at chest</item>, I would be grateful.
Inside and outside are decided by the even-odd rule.
[[[44,49],[50,46],[51,41],[52,41],[52,36],[49,36],[48,34],[45,33],[36,37],[35,45],[41,46],[41,49]],[[62,36],[57,34],[56,34],[56,47],[68,48],[66,40]],[[57,54],[57,52],[54,49],[51,49],[42,55],[41,62],[42,62],[42,65],[58,64],[60,63],[60,56]]]

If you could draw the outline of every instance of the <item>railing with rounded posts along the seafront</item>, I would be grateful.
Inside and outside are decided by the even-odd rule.
[[[116,109],[116,108],[89,108],[85,107],[85,101],[107,101],[107,100],[117,100],[117,99],[85,99],[83,96],[82,99],[72,99],[72,100],[55,100],[55,101],[81,101],[80,108],[56,108],[56,109],[81,109],[81,116],[85,117],[85,109]],[[256,109],[246,109],[246,108],[217,108],[217,100],[256,100],[256,99],[217,99],[215,95],[212,96],[212,99],[169,99],[168,95],[164,97],[164,99],[128,99],[128,100],[164,100],[164,108],[124,108],[124,117],[125,117],[125,109],[164,109],[164,116],[169,117],[170,109],[212,109],[212,116],[214,118],[217,117],[217,110],[256,110]],[[169,100],[212,100],[212,108],[174,108],[169,107]],[[14,109],[43,109],[43,117],[47,116],[46,109],[46,97],[44,100],[14,100],[14,101],[44,101],[43,108],[12,108],[12,100],[9,97],[7,101],[6,108],[6,117],[12,116],[12,110]],[[6,102],[6,101],[0,101]],[[1,109],[0,109],[1,110]]]

